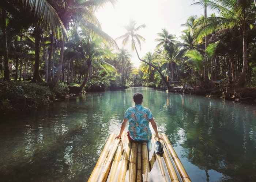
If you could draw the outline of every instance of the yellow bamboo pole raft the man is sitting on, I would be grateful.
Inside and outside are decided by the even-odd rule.
[[[169,139],[165,134],[161,135],[162,157],[155,153],[154,143],[158,138],[154,135],[150,147],[147,142],[129,141],[126,132],[122,139],[114,139],[115,134],[110,134],[88,181],[191,182]]]

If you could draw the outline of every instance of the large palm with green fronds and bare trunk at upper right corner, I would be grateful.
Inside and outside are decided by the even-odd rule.
[[[218,30],[214,37],[219,36],[224,31],[230,29],[240,29],[243,39],[243,66],[242,73],[238,81],[238,86],[245,85],[245,78],[247,72],[247,35],[251,28],[255,28],[255,3],[251,0],[201,0],[195,4],[205,5],[207,7],[217,10],[220,17],[208,17],[196,23],[198,27],[197,39],[202,40],[203,37]],[[200,28],[199,28],[200,27]]]

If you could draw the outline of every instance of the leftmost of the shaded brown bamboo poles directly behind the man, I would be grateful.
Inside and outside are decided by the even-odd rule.
[[[130,163],[129,163],[129,182],[136,181],[136,160],[137,160],[137,143],[132,142]]]

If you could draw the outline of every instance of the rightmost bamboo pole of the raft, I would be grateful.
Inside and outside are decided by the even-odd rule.
[[[188,177],[188,174],[184,168],[184,166],[182,165],[180,159],[178,158],[176,152],[174,151],[169,139],[167,138],[167,136],[165,134],[162,134],[163,136],[163,140],[165,142],[166,148],[169,151],[170,155],[172,156],[172,159],[175,163],[175,166],[177,167],[178,173],[181,176],[181,179],[183,182],[191,182],[191,179]]]

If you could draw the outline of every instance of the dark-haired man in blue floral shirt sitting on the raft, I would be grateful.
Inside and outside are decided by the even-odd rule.
[[[149,122],[151,123],[154,131],[155,138],[162,139],[159,137],[157,124],[153,119],[152,112],[149,108],[143,107],[141,104],[143,102],[143,95],[141,93],[136,93],[133,95],[133,101],[135,102],[134,107],[130,107],[124,114],[124,120],[121,125],[120,133],[116,138],[120,138],[127,121],[129,121],[128,127],[128,138],[133,142],[145,142],[150,141],[152,138],[152,133],[149,128]]]

